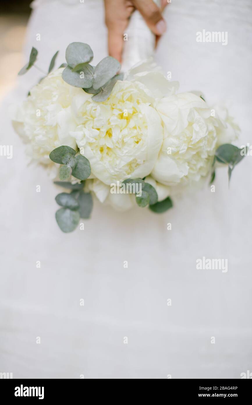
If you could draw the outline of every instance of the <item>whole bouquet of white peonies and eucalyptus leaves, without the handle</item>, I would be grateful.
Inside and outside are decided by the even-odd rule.
[[[37,53],[33,48],[19,74]],[[30,159],[69,191],[55,198],[63,232],[90,217],[93,196],[119,210],[135,205],[163,213],[173,195],[212,184],[217,166],[227,165],[230,179],[246,154],[232,144],[239,127],[226,109],[178,93],[178,82],[151,60],[123,75],[112,57],[92,66],[93,52],[84,43],[68,45],[67,63],[53,71],[56,56],[16,109],[13,125]]]

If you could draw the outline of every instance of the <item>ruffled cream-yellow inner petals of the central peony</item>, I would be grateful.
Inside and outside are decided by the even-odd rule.
[[[123,82],[122,86],[121,82],[103,104],[85,102],[81,125],[85,136],[78,146],[88,144],[110,173],[123,171],[130,175],[146,157],[147,123],[141,109],[144,101],[132,83]]]

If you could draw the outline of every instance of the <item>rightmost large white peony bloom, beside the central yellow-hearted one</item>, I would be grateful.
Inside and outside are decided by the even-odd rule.
[[[151,173],[164,185],[190,185],[209,174],[224,125],[197,95],[162,98],[156,106],[164,128],[159,157]]]

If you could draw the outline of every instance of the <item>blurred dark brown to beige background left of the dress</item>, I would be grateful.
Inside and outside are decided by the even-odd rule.
[[[0,2],[0,101],[14,87],[25,64],[22,55],[30,0]]]

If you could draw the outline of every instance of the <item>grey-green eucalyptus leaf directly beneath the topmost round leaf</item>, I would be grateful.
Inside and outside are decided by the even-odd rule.
[[[70,66],[67,66],[62,72],[62,79],[74,87],[91,87],[93,84],[93,66],[87,64],[80,72],[73,72]]]

